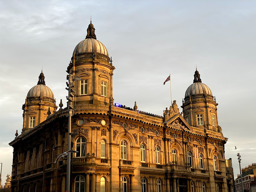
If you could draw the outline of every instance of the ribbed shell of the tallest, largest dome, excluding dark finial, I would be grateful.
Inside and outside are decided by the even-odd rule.
[[[94,38],[87,38],[78,43],[73,52],[73,55],[88,52],[101,53],[108,56],[108,51],[104,44]]]

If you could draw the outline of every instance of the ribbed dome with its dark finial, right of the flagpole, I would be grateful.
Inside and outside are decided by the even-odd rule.
[[[196,94],[207,94],[212,96],[212,91],[206,84],[202,83],[200,74],[197,70],[195,71],[194,75],[194,83],[187,88],[185,98],[189,97],[189,95],[192,96]]]

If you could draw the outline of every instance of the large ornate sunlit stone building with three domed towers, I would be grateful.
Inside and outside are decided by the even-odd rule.
[[[112,59],[89,24],[67,72],[73,82],[72,190],[75,192],[227,192],[223,136],[217,103],[200,74],[185,93],[157,116],[114,105]],[[14,148],[12,192],[65,192],[67,108],[56,111],[44,74],[23,105],[23,129]],[[183,115],[182,115],[183,114]],[[184,116],[184,117],[183,117]],[[230,165],[229,165],[230,168]],[[227,183],[227,181],[229,183]]]

